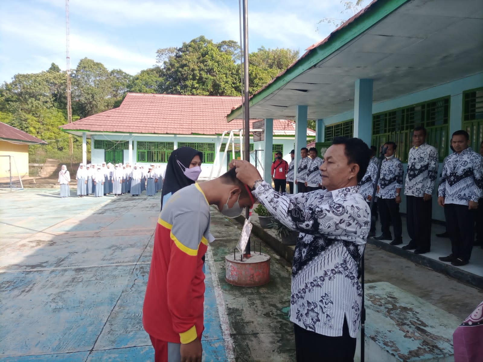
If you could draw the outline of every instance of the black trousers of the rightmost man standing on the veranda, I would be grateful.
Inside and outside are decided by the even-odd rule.
[[[475,213],[468,205],[444,204],[446,230],[451,240],[451,252],[456,258],[469,261],[475,237]]]

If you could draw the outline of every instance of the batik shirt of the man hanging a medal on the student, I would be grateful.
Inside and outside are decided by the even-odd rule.
[[[356,336],[362,290],[357,273],[370,226],[357,186],[282,195],[263,181],[253,195],[285,226],[299,231],[292,266],[290,320],[341,336],[344,316]]]

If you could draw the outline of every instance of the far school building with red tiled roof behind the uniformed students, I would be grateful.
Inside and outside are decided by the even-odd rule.
[[[84,163],[87,161],[87,139],[91,139],[93,164],[103,161],[165,164],[178,147],[195,148],[203,153],[200,179],[206,179],[225,172],[232,158],[241,158],[243,138],[240,139],[239,131],[243,128],[243,121],[227,124],[226,118],[240,101],[240,97],[128,93],[118,108],[63,125],[62,130],[83,138]],[[251,129],[254,122],[250,122]],[[229,152],[223,159],[231,131],[234,132],[229,141]],[[295,143],[295,123],[274,120],[270,137],[273,142],[268,158],[273,161],[274,153],[280,151],[285,160],[290,161],[290,151]],[[306,127],[304,137],[314,139],[315,131]],[[261,148],[262,144],[255,144],[253,135],[250,135],[251,162],[261,171],[263,164],[260,160],[264,159],[265,150]]]

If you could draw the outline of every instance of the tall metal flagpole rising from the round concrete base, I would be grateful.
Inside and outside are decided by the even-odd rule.
[[[243,104],[244,112],[244,129],[245,129],[245,160],[250,162],[250,95],[248,93],[248,0],[243,0]],[[250,210],[246,208],[245,217],[248,220]],[[246,244],[245,254],[250,254],[250,240]]]

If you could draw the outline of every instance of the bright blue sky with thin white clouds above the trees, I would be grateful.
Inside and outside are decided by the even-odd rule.
[[[367,5],[369,0],[364,1]],[[69,0],[71,69],[88,57],[129,74],[156,64],[156,50],[204,35],[240,42],[238,0]],[[248,0],[248,48],[300,55],[347,19],[339,0]],[[0,84],[51,63],[66,69],[65,0],[0,0]]]

